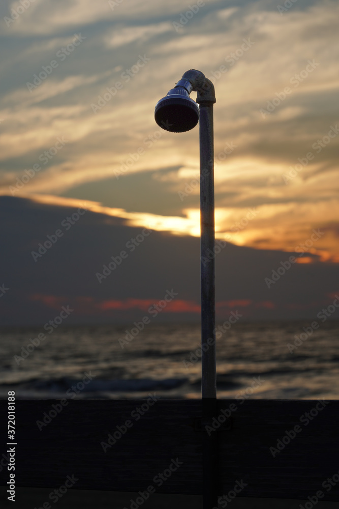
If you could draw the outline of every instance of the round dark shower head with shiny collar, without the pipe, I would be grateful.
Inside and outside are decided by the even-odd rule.
[[[155,119],[166,131],[190,131],[199,121],[199,106],[186,89],[176,87],[156,104]]]

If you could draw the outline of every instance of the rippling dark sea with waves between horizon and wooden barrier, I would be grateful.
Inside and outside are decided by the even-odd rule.
[[[339,322],[318,324],[219,329],[218,398],[338,399]],[[23,399],[200,398],[200,324],[139,328],[2,329],[0,398],[8,390]]]

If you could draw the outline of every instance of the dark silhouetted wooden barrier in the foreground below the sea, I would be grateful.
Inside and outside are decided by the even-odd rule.
[[[160,399],[138,420],[134,411],[145,400],[68,401],[40,431],[37,421],[60,400],[16,400],[17,486],[55,488],[69,475],[78,479],[73,489],[138,492],[153,486],[157,493],[202,493],[201,400]],[[339,500],[339,482],[326,481],[339,479],[339,400],[319,401],[218,400],[220,415],[237,407],[223,431],[212,432],[219,440],[220,495],[242,484],[241,497],[306,500],[321,490],[322,500]],[[7,401],[0,408],[6,437]],[[126,421],[132,426],[109,444],[108,435]],[[293,436],[295,426],[300,431],[289,442],[287,432]],[[6,455],[10,446],[2,447]],[[173,460],[181,463],[176,469]],[[159,486],[155,478],[164,471]],[[5,485],[8,476],[1,477]]]

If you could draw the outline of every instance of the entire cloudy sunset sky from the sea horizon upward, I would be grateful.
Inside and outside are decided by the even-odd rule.
[[[199,129],[170,133],[154,120],[192,68],[217,97],[215,230],[227,241],[217,316],[308,318],[330,305],[338,16],[333,1],[2,2],[2,323],[44,323],[67,304],[73,323],[133,322],[175,281],[162,316],[199,319]],[[60,227],[79,207],[83,217]],[[126,249],[144,229],[149,238]],[[128,259],[99,282],[124,249]]]

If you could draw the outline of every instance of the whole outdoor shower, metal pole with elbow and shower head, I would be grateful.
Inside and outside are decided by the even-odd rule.
[[[200,138],[200,261],[201,261],[201,394],[203,433],[203,508],[218,506],[218,434],[208,433],[217,417],[215,361],[215,270],[214,270],[214,149],[213,83],[201,71],[191,69],[182,75],[176,87],[156,105],[156,121],[171,117],[172,132],[188,131],[198,122],[198,111],[189,94],[197,92]],[[193,103],[193,104],[192,104]]]

